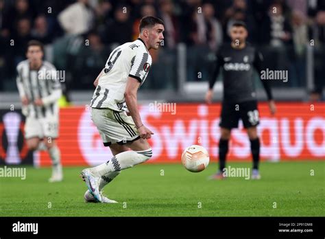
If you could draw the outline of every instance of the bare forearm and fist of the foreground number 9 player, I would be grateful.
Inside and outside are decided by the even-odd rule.
[[[125,103],[128,106],[128,110],[130,111],[130,115],[136,125],[136,128],[138,128],[140,137],[143,139],[150,139],[152,133],[149,128],[145,127],[142,123],[139,110],[138,110],[138,103],[137,103],[137,97],[136,93],[138,92],[140,86],[139,80],[128,77],[128,82],[126,83],[125,87]]]

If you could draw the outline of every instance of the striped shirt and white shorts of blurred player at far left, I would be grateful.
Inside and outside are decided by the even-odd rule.
[[[29,60],[23,60],[16,69],[19,95],[29,102],[27,106],[22,106],[26,116],[25,139],[56,139],[59,126],[58,100],[62,94],[56,67],[43,61],[40,69],[34,70],[29,67]],[[36,99],[42,100],[43,106],[37,106],[34,103]]]

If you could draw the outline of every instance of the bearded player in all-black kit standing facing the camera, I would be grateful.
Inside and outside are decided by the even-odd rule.
[[[253,67],[261,75],[263,70],[263,56],[252,45],[246,42],[248,30],[243,22],[235,22],[230,28],[231,43],[220,47],[215,65],[213,77],[209,81],[209,89],[206,93],[206,102],[210,103],[213,98],[213,85],[223,69],[224,77],[224,100],[222,102],[221,138],[219,141],[219,170],[211,179],[224,179],[226,168],[226,155],[228,142],[232,128],[237,128],[239,119],[247,130],[250,138],[250,148],[253,157],[252,179],[261,179],[258,171],[260,158],[260,140],[256,126],[259,123],[256,92],[253,84]],[[266,80],[262,80],[267,93],[269,110],[274,115],[276,105],[272,98],[272,92]]]

